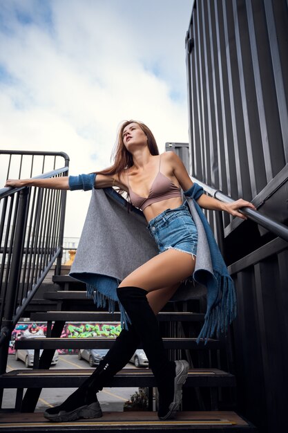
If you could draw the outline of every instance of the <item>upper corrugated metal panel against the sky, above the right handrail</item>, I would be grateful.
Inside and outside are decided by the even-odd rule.
[[[287,28],[285,0],[203,0],[186,37],[191,174],[256,205],[288,178]]]

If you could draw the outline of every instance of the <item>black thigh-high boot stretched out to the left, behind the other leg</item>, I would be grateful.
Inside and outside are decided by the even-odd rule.
[[[75,421],[79,418],[99,418],[102,410],[96,393],[101,391],[108,380],[120,371],[140,344],[140,337],[132,325],[122,329],[111,349],[99,362],[93,374],[59,406],[44,412],[45,418],[57,423]]]

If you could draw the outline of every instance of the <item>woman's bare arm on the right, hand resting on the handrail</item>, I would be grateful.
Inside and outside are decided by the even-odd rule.
[[[167,152],[167,154],[170,154],[169,159],[173,166],[173,173],[179,181],[182,189],[184,191],[189,190],[189,188],[191,188],[193,185],[193,182],[191,181],[191,178],[187,173],[186,167],[182,163],[182,160],[174,152]],[[242,219],[247,219],[247,216],[239,212],[240,208],[250,208],[256,210],[252,203],[243,199],[236,200],[233,203],[223,203],[222,201],[207,196],[206,194],[202,194],[202,196],[200,196],[200,198],[197,200],[197,203],[203,209],[224,210],[225,212],[228,212],[233,216],[238,216]]]

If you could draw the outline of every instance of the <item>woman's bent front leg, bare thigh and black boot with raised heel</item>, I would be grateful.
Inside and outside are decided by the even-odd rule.
[[[137,268],[117,288],[119,301],[124,306],[140,340],[160,391],[158,416],[168,419],[174,416],[180,405],[182,385],[188,373],[188,363],[171,362],[166,356],[157,320],[147,295],[160,290],[163,285],[176,284],[193,273],[192,255],[179,250],[168,250],[153,257]]]

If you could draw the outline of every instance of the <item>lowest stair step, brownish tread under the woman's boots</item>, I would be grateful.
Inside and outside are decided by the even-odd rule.
[[[214,430],[215,429],[215,430]],[[255,428],[235,412],[179,412],[176,419],[160,421],[156,412],[104,412],[102,418],[78,420],[70,423],[51,423],[41,412],[34,414],[2,414],[0,432],[87,432],[89,430],[145,433],[147,430],[173,430],[188,433],[210,432],[256,432]]]

